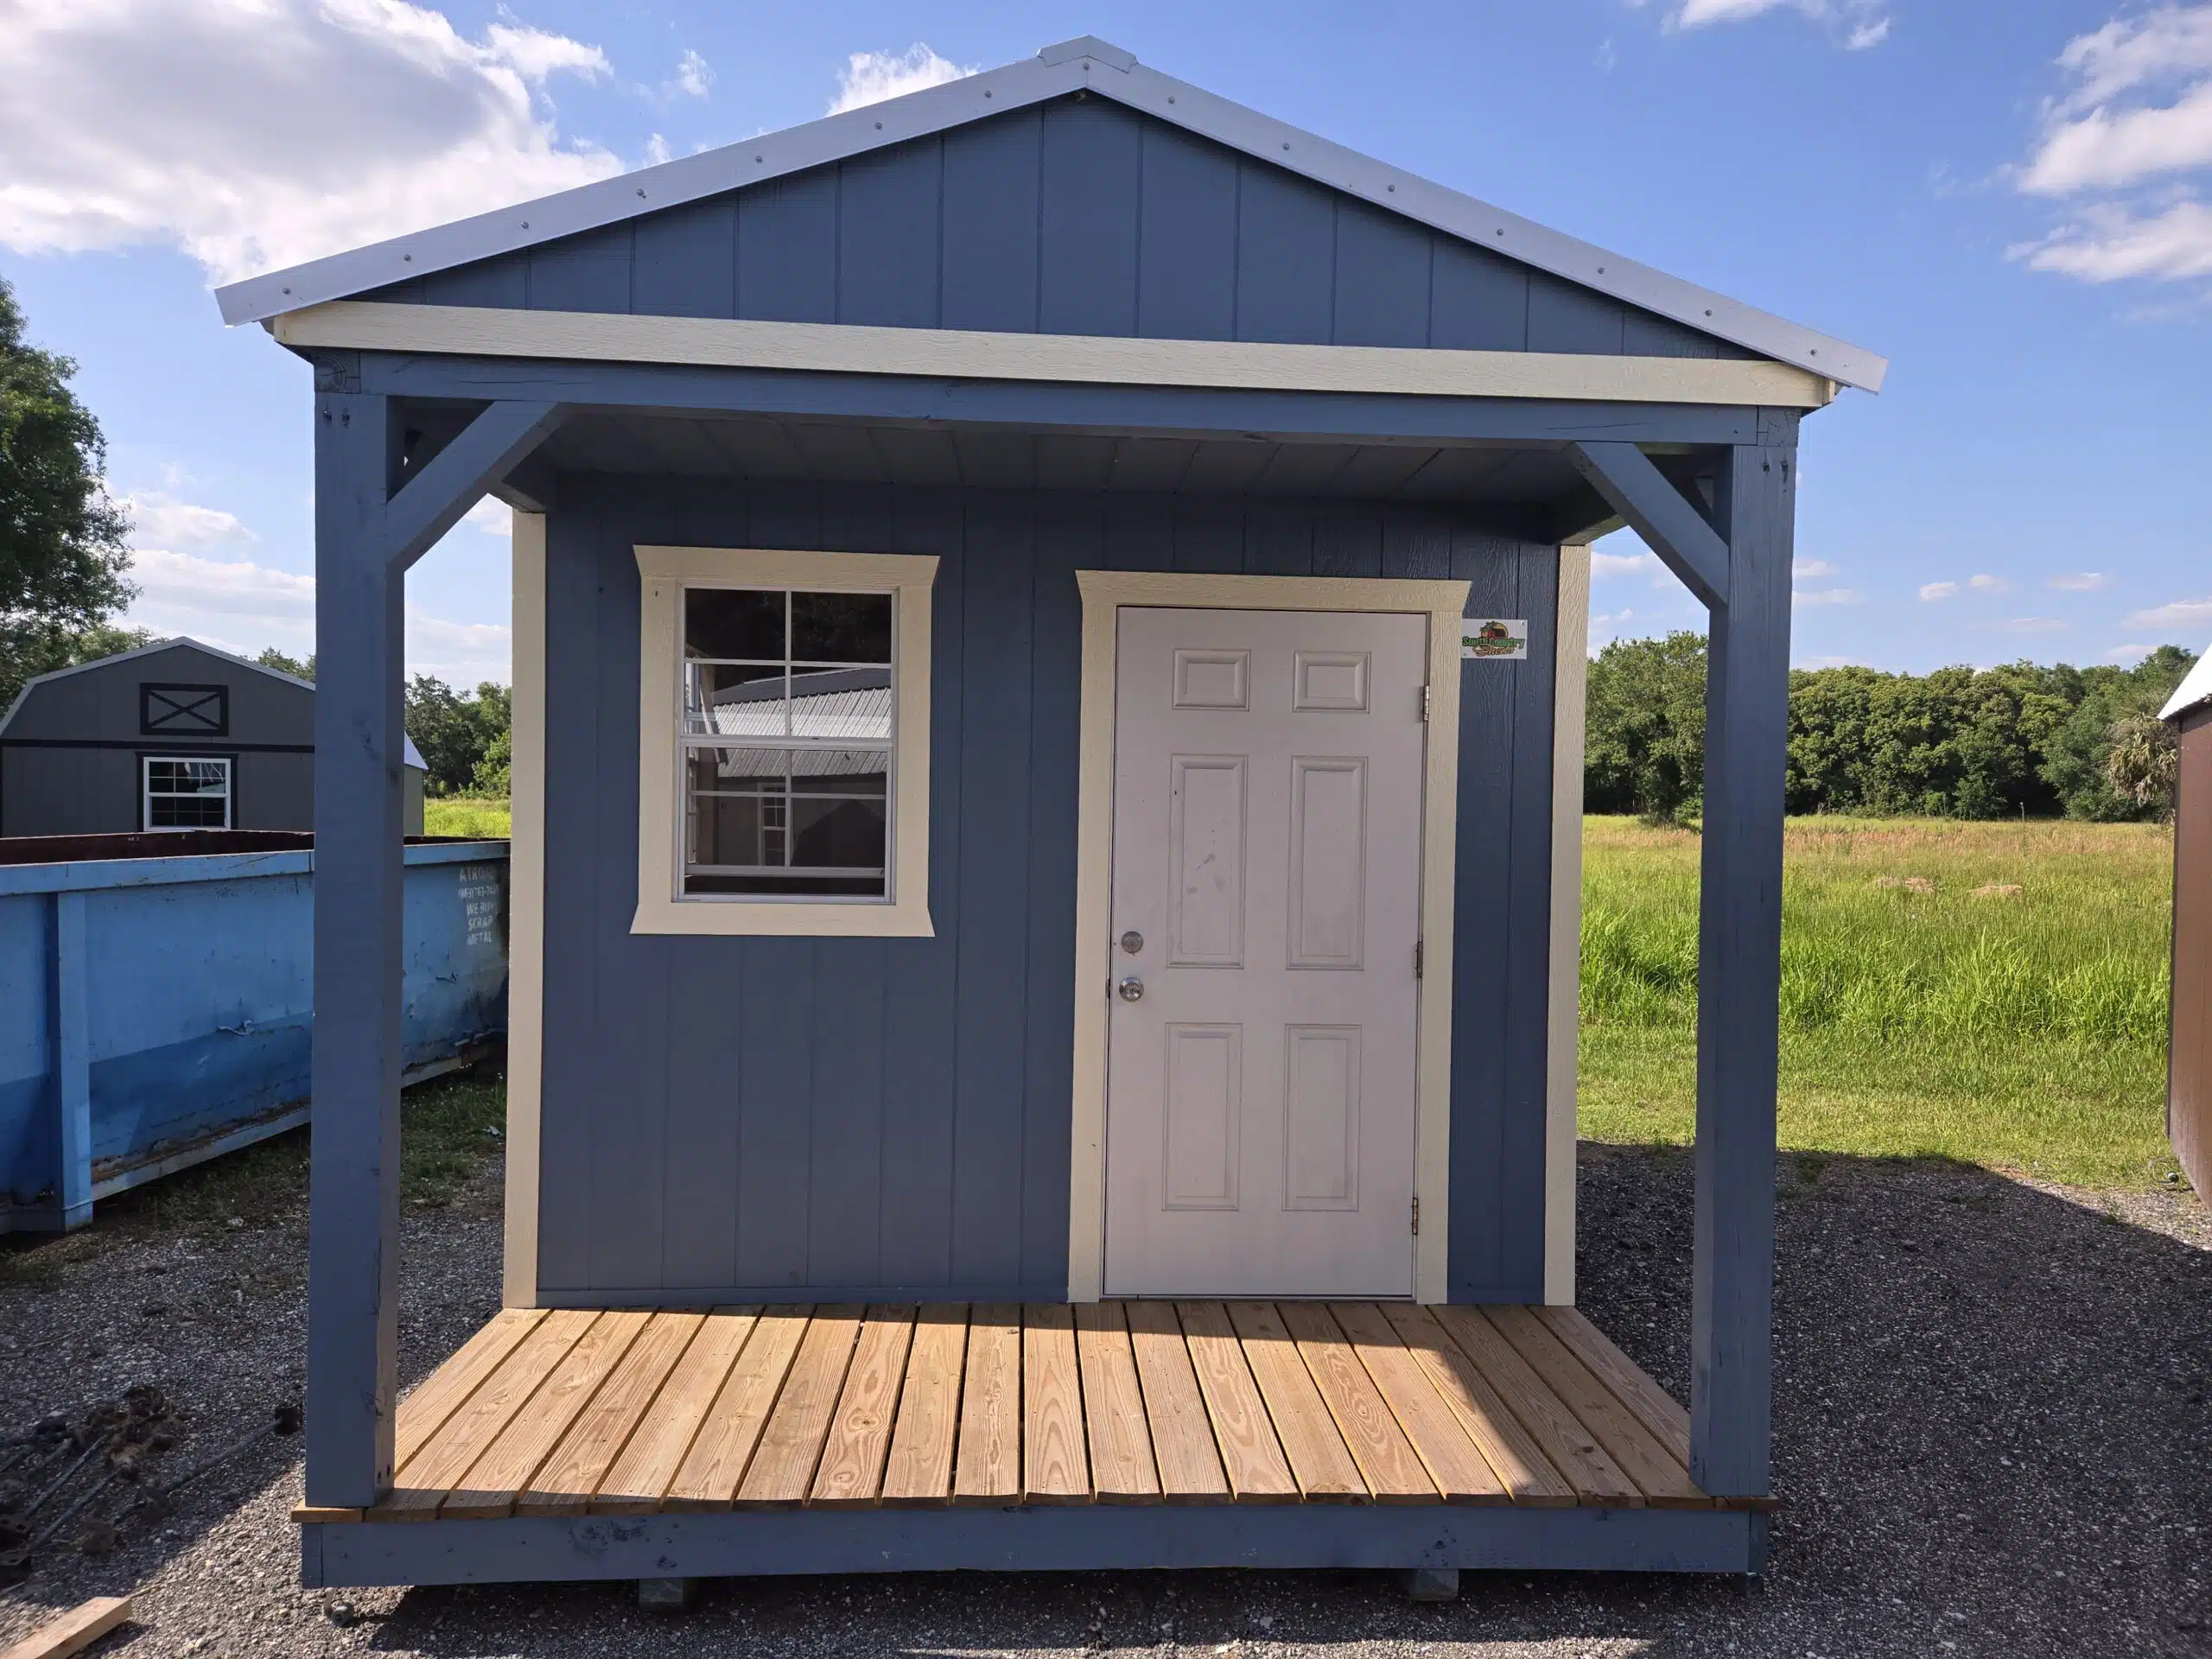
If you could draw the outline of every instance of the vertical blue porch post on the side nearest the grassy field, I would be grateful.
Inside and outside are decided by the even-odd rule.
[[[1705,670],[1690,1475],[1739,1498],[1767,1493],[1770,1451],[1794,411],[1763,409],[1759,442],[1730,451],[1714,515],[1730,571]]]

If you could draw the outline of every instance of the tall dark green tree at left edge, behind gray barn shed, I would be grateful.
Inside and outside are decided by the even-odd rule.
[[[86,639],[133,595],[131,520],[102,487],[106,445],[75,372],[24,341],[0,279],[0,708],[31,675],[108,655],[84,655]]]

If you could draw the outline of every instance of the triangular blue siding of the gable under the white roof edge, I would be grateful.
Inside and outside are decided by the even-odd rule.
[[[971,122],[369,299],[1754,356],[1104,97]]]

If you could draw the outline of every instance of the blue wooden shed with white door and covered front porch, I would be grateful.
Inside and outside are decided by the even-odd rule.
[[[1759,1571],[1796,440],[1880,358],[1097,40],[219,299],[316,387],[310,1582]],[[484,491],[507,1312],[398,1402]],[[1621,522],[1712,611],[1688,1409],[1573,1307]]]

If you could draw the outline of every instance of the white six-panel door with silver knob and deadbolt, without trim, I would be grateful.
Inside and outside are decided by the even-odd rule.
[[[1413,1292],[1427,661],[1418,615],[1119,613],[1108,1296]]]

